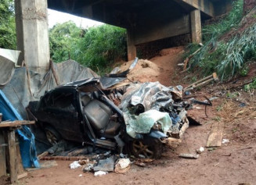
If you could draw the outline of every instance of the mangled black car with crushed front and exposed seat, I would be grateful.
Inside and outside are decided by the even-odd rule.
[[[27,107],[50,144],[61,139],[98,148],[160,158],[163,145],[179,141],[189,126],[182,87],[131,84],[96,77],[45,92]]]

